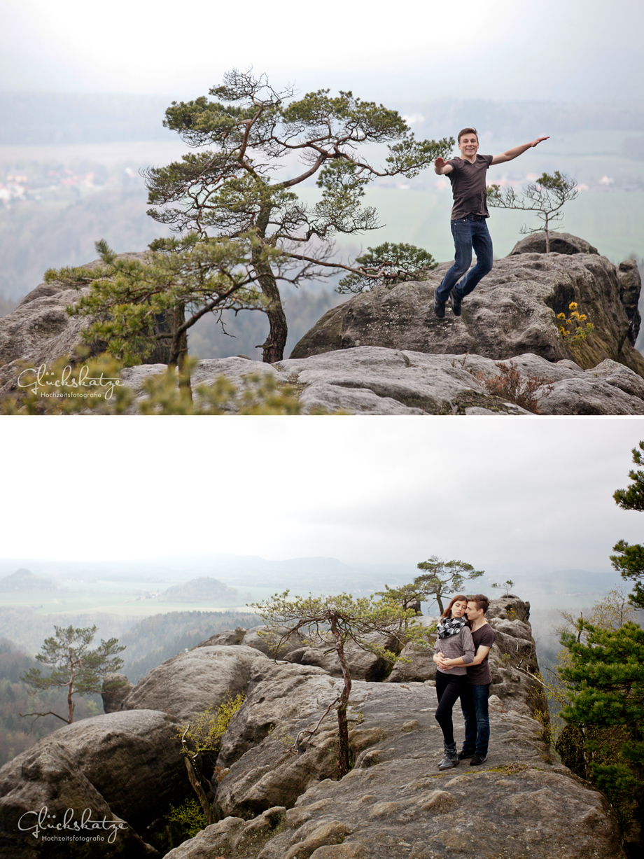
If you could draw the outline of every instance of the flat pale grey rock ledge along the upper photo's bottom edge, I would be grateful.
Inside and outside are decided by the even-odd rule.
[[[528,415],[507,399],[489,393],[486,381],[501,375],[502,364],[519,375],[519,391],[531,393],[543,415],[644,414],[644,380],[634,370],[606,359],[582,370],[568,359],[552,363],[525,354],[495,362],[478,355],[427,355],[378,346],[325,352],[300,360],[260,364],[245,358],[202,361],[195,381],[226,376],[237,387],[245,375],[266,373],[301,387],[303,411],[319,409],[372,415]],[[159,365],[129,368],[125,383],[142,395],[143,381]],[[231,413],[236,411],[234,403]]]

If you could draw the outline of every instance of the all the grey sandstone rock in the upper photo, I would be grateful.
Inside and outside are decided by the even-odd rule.
[[[202,361],[192,381],[224,375],[239,387],[247,375],[270,373],[295,383],[305,413],[644,414],[635,260],[612,265],[566,233],[555,234],[552,247],[544,253],[543,234],[519,241],[468,296],[461,317],[434,315],[434,287],[450,265],[441,263],[422,283],[380,287],[332,308],[290,359],[272,366],[243,357]],[[81,342],[84,323],[64,312],[77,295],[61,283],[41,284],[0,319],[0,400],[15,393],[22,361],[51,363]],[[571,351],[555,317],[573,301],[595,329]],[[143,382],[165,369],[162,360],[159,353],[125,370],[139,399]],[[518,374],[530,402],[490,390],[504,369]],[[230,411],[236,408],[233,402]]]

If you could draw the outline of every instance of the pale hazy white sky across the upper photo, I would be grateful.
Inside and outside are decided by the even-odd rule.
[[[641,99],[644,5],[3,0],[0,88],[205,94],[232,67],[362,98]]]

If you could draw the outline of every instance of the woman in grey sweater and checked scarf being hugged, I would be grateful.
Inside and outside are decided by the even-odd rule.
[[[445,746],[445,755],[438,765],[439,770],[449,770],[450,767],[459,765],[459,752],[456,751],[454,741],[452,710],[461,693],[467,688],[465,665],[474,659],[474,642],[466,611],[467,597],[457,594],[440,616],[438,623],[438,636],[434,647],[434,662],[438,666],[436,668],[438,708],[435,718],[443,732]],[[441,668],[439,654],[446,659],[456,659],[460,656],[464,664],[453,668]]]

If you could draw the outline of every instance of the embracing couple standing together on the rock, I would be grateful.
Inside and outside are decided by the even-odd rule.
[[[483,764],[488,756],[489,673],[488,654],[495,642],[495,631],[485,619],[489,600],[483,594],[453,597],[438,623],[434,648],[436,663],[436,721],[443,732],[445,755],[439,770],[458,766],[464,758],[470,765]],[[460,698],[465,719],[465,740],[456,751],[452,709]]]

